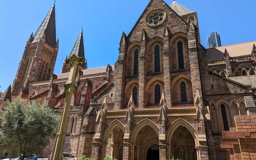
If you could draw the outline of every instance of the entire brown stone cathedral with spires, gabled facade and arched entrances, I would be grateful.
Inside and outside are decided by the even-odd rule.
[[[64,151],[95,160],[256,159],[255,45],[205,49],[197,12],[151,0],[122,33],[114,65],[79,66]],[[1,93],[1,112],[7,99],[21,97],[62,113],[70,66],[63,57],[62,73],[53,74],[58,48],[54,4]],[[73,54],[86,58],[82,30]]]

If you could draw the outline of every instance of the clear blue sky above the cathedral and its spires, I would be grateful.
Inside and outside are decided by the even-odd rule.
[[[61,73],[76,38],[84,28],[84,52],[88,68],[113,65],[118,58],[122,31],[127,35],[150,0],[57,0],[56,37],[60,39],[54,73]],[[217,31],[222,45],[256,39],[255,0],[176,0],[198,13],[201,43]],[[171,4],[172,0],[166,0]],[[1,92],[15,78],[24,47],[36,32],[53,0],[0,0]]]

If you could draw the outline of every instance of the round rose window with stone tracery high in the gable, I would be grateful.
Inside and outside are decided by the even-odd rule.
[[[166,13],[163,10],[157,9],[151,11],[147,17],[146,22],[149,26],[157,26],[164,22],[166,18]]]

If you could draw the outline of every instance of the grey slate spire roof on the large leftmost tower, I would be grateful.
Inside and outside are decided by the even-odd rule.
[[[46,35],[45,43],[54,48],[56,43],[55,4],[52,5],[51,9],[36,31],[32,43],[38,42],[44,31]]]

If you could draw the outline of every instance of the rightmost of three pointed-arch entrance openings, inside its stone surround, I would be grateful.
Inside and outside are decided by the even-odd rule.
[[[184,126],[179,126],[172,136],[173,156],[175,159],[197,160],[195,141]]]

